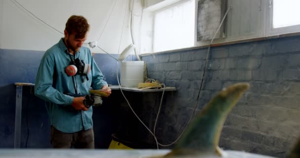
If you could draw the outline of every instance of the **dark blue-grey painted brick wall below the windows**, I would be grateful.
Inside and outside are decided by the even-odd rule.
[[[178,88],[164,96],[156,128],[162,144],[176,140],[188,122],[206,53],[207,48],[203,48],[142,57],[150,78]],[[213,47],[196,111],[217,91],[241,81],[249,82],[251,88],[226,119],[220,146],[285,157],[300,137],[300,36]],[[144,97],[151,100],[151,96]],[[151,104],[155,110],[145,118],[155,120],[159,101]],[[153,124],[149,124],[150,129]]]

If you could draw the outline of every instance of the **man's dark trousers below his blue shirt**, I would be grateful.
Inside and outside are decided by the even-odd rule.
[[[51,125],[50,142],[53,148],[94,149],[93,128],[75,133],[64,133]]]

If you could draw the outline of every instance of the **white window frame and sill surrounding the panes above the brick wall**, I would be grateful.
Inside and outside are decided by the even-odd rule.
[[[164,7],[160,7],[158,9],[151,10],[151,12],[154,14],[154,12],[158,12],[158,11],[176,6],[180,3],[184,3],[189,0],[175,0],[175,1],[176,2],[166,5]],[[194,0],[194,2],[195,2],[195,5],[194,5],[195,6],[194,46],[166,50],[166,51],[161,51],[161,52],[172,52],[174,50],[189,49],[189,48],[193,48],[193,47],[203,47],[203,46],[205,47],[210,43],[210,40],[197,41],[198,1],[199,0]],[[285,35],[287,35],[287,36],[299,35],[300,34],[300,25],[272,28],[272,19],[273,19],[272,18],[272,11],[273,11],[272,4],[273,4],[273,0],[261,0],[261,4],[260,4],[260,9],[261,9],[260,25],[261,26],[258,27],[258,31],[255,34],[241,35],[241,36],[237,36],[237,37],[227,37],[226,36],[225,38],[214,39],[213,44],[220,45],[220,44],[226,44],[226,43],[239,43],[239,42],[245,42],[245,41],[255,41],[255,40],[261,40],[261,39],[267,39],[268,37],[276,38],[276,37],[283,37]],[[229,4],[227,5],[227,7],[229,7]],[[151,41],[152,43],[150,43],[151,51],[143,52],[142,54],[160,53],[160,52],[153,51],[153,48],[154,48],[154,45],[153,45],[154,44],[154,15],[152,17],[152,20],[153,20],[153,24],[152,24],[153,32],[152,32],[152,41]],[[227,34],[227,32],[226,32],[226,34]]]

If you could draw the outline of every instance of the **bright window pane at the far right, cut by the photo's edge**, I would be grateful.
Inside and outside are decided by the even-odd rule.
[[[300,24],[300,0],[273,0],[273,28]]]

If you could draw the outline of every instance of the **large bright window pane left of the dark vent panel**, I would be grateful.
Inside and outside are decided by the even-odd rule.
[[[153,51],[194,46],[194,0],[156,13]]]

